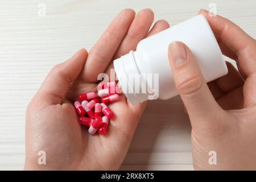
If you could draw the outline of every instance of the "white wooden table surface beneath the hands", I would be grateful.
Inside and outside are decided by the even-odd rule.
[[[22,169],[25,111],[53,65],[90,49],[119,11],[150,7],[177,24],[212,1],[1,0],[0,169]],[[39,16],[40,3],[46,16]],[[256,38],[256,1],[214,0],[217,14]],[[42,6],[41,6],[42,7]],[[193,169],[191,126],[179,97],[148,104],[121,169]]]

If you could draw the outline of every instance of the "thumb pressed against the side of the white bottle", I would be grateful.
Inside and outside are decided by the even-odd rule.
[[[177,91],[187,108],[189,118],[205,123],[209,120],[209,114],[216,116],[216,111],[221,107],[210,93],[190,49],[181,42],[172,42],[168,48],[168,57]]]

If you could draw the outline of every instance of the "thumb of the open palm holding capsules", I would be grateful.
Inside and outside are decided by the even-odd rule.
[[[35,96],[43,98],[40,105],[61,104],[69,85],[80,75],[86,57],[86,50],[81,49],[69,60],[52,68]]]

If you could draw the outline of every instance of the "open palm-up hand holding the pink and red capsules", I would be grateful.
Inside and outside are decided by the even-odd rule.
[[[169,27],[160,20],[148,32],[154,13],[145,9],[134,18],[123,10],[87,54],[81,49],[56,65],[27,107],[26,162],[24,169],[118,169],[127,154],[139,118],[146,105],[131,105],[125,96],[110,104],[115,119],[108,134],[90,135],[80,126],[73,101],[97,88],[99,73],[109,73],[112,61],[135,49],[146,36]],[[86,61],[85,61],[86,60]],[[38,164],[38,152],[46,152],[46,165]]]

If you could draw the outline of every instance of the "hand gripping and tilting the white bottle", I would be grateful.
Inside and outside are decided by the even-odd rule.
[[[169,59],[174,80],[192,125],[195,169],[256,169],[256,42],[221,16],[208,19],[224,55],[237,61],[228,75],[210,82],[187,46],[174,42]],[[216,152],[210,165],[209,152]]]

